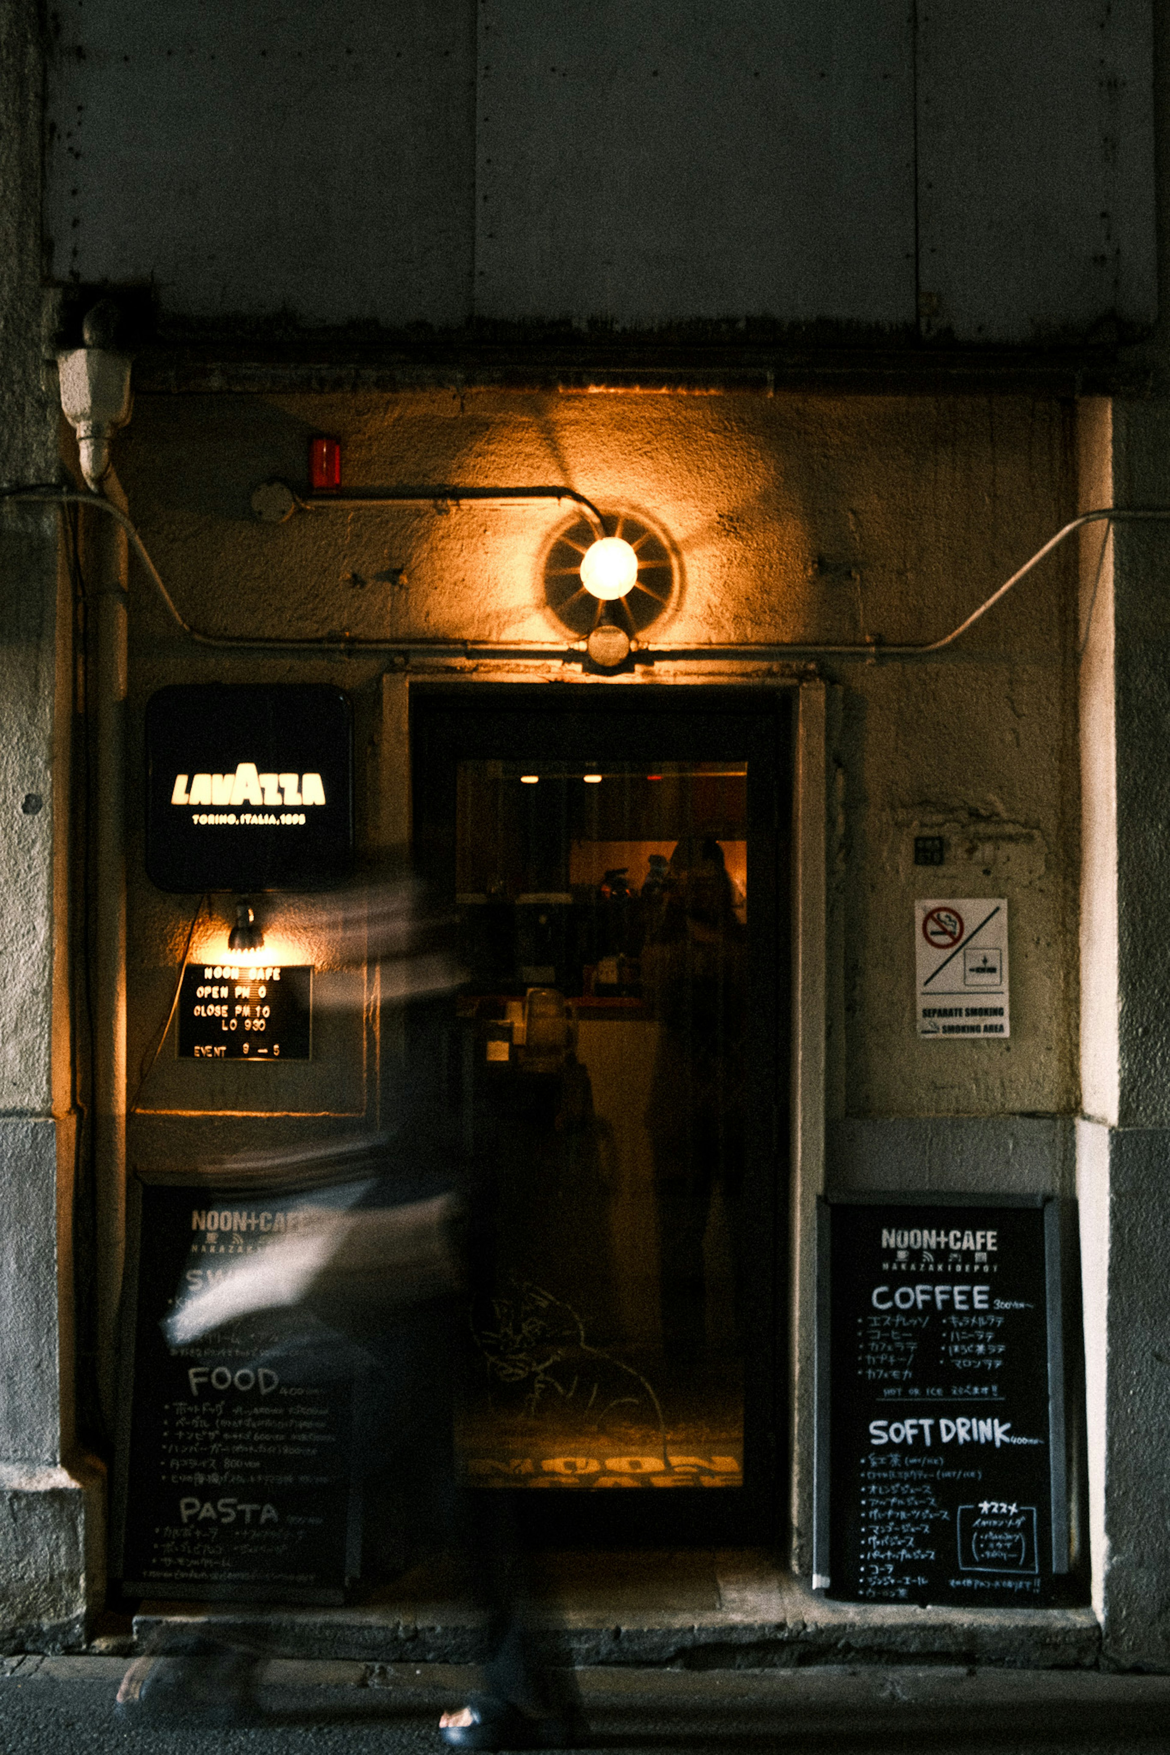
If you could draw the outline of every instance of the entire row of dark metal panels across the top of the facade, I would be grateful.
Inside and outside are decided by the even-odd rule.
[[[53,274],[170,311],[912,330],[917,77],[923,333],[1154,316],[1151,0],[58,16]]]

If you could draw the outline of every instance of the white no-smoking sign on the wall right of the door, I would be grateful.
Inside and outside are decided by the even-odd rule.
[[[916,1030],[930,1041],[1012,1034],[1007,899],[914,904]]]

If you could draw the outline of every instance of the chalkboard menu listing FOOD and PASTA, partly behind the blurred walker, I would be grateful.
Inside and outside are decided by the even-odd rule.
[[[130,1595],[340,1602],[358,1571],[351,1386],[289,1311],[168,1346],[175,1295],[321,1197],[132,1185],[114,1553]],[[291,1346],[293,1329],[300,1344]]]

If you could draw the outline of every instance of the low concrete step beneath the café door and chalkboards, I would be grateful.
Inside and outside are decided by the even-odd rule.
[[[974,1664],[1045,1671],[1100,1662],[1102,1630],[1089,1608],[833,1602],[761,1550],[542,1553],[533,1569],[558,1648],[582,1669]],[[467,1664],[481,1650],[479,1616],[446,1560],[344,1608],[142,1602],[133,1616],[135,1650],[195,1629],[279,1657]]]

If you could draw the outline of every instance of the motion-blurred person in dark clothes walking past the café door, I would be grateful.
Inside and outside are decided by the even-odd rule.
[[[556,1690],[526,1618],[526,1565],[509,1495],[472,1494],[454,1455],[468,1299],[491,1262],[493,1151],[468,1150],[467,1093],[453,1095],[449,995],[460,971],[447,923],[428,916],[412,885],[372,893],[382,990],[405,1006],[393,1132],[323,1143],[339,1165],[339,1199],[307,1225],[240,1258],[212,1286],[181,1297],[165,1323],[189,1346],[226,1323],[288,1313],[288,1348],[353,1383],[353,1451],[363,1506],[363,1576],[393,1576],[428,1551],[456,1548],[467,1590],[484,1613],[484,1692],[444,1715],[454,1748],[561,1748],[579,1729],[575,1694]],[[339,934],[360,956],[360,902],[339,906]],[[326,927],[328,923],[323,921]],[[303,1176],[302,1148],[289,1155]],[[237,1160],[233,1176],[272,1176],[281,1157]],[[344,1178],[344,1185],[342,1185]],[[203,1722],[256,1718],[261,1653],[202,1636],[165,1643],[123,1678],[123,1711],[195,1713]]]

